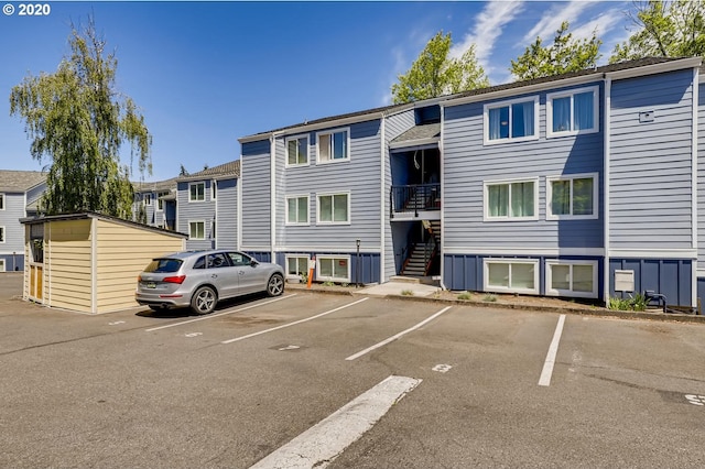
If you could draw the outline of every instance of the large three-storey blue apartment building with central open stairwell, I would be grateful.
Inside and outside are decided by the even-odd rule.
[[[699,67],[646,58],[245,137],[239,248],[290,276],[315,255],[319,281],[696,306]]]

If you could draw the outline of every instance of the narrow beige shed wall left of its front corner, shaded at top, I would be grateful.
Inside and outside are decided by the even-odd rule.
[[[91,312],[90,219],[44,225],[44,304]]]

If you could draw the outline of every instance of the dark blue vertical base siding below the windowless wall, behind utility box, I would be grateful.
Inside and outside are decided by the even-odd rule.
[[[659,259],[610,259],[609,277],[615,279],[615,270],[634,272],[634,292],[651,290],[665,295],[669,305],[691,306],[693,262],[691,260]],[[610,296],[629,296],[615,292],[610,282]]]

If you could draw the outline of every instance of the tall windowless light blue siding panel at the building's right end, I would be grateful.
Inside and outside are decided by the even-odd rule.
[[[692,70],[614,83],[610,249],[693,247],[692,106]]]

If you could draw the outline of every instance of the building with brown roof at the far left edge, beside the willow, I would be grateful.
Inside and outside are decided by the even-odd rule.
[[[24,270],[24,227],[20,218],[39,211],[46,173],[0,170],[0,272]]]

